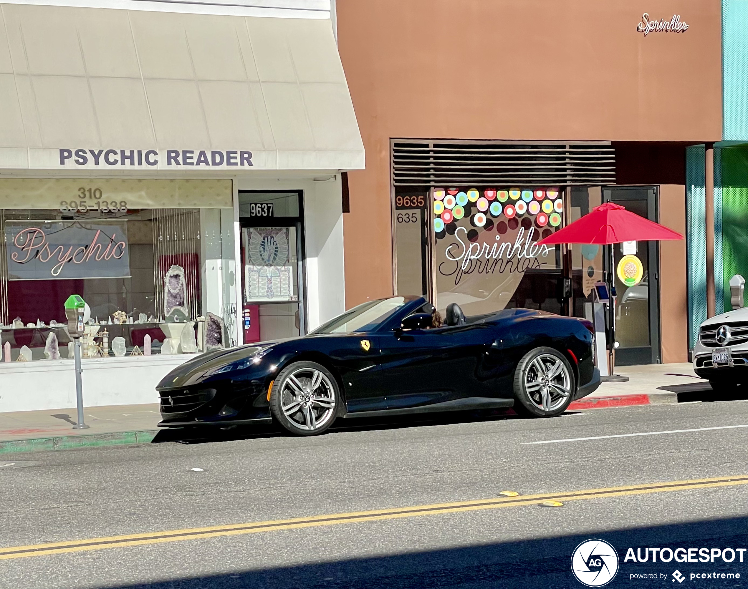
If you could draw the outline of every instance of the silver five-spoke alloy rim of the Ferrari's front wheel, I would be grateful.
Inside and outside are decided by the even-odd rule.
[[[281,410],[300,430],[318,430],[335,415],[335,389],[315,368],[298,368],[286,376],[281,389]]]

